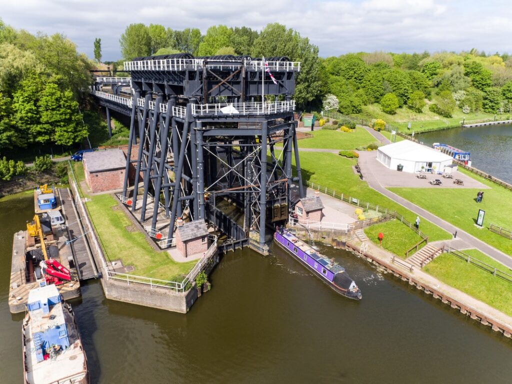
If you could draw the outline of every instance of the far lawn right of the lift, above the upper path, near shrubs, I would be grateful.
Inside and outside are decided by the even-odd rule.
[[[298,140],[300,148],[325,148],[328,150],[355,150],[360,146],[377,143],[364,128],[357,127],[354,132],[319,130],[311,132],[310,139]]]

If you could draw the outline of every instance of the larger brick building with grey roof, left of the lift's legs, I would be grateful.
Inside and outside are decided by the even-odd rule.
[[[125,167],[126,158],[118,149],[83,154],[83,170],[92,192],[121,189]]]

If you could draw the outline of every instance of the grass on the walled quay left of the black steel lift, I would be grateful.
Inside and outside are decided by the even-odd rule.
[[[75,163],[73,168],[78,180],[83,180],[82,163]],[[133,232],[126,229],[132,227],[133,222],[111,195],[90,195],[88,198],[87,209],[105,257],[110,261],[120,259],[125,266],[133,265],[135,270],[130,274],[181,282],[183,276],[197,264],[197,260],[176,263],[167,252],[156,251],[144,233],[137,229]]]

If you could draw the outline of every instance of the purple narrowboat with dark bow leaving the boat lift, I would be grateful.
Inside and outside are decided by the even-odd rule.
[[[354,300],[361,300],[361,290],[345,268],[317,253],[286,229],[280,228],[276,231],[274,241],[336,292]]]

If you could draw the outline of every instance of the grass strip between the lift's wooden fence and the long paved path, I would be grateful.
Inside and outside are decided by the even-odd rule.
[[[339,193],[397,211],[410,222],[416,220],[416,215],[413,212],[371,189],[366,181],[360,180],[352,170],[352,166],[355,164],[355,159],[348,159],[331,153],[301,153],[301,169],[304,182],[319,183]],[[426,219],[421,221],[421,225],[421,231],[429,236],[430,241],[452,238],[450,233]]]

